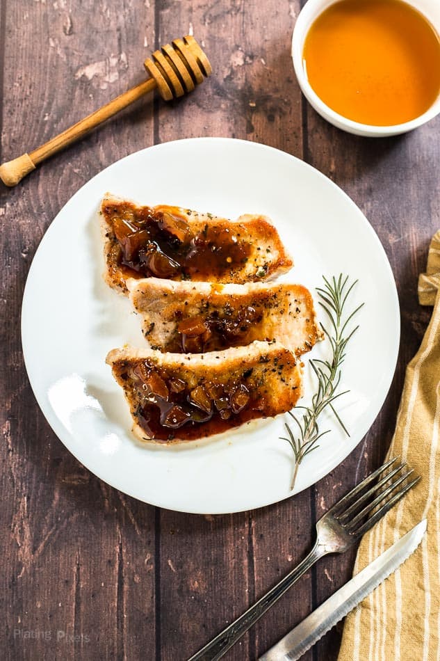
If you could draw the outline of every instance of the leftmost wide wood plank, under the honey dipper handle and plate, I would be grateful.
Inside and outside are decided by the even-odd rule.
[[[124,13],[115,3],[9,2],[2,159],[140,81],[144,38],[154,41],[154,6],[142,1]],[[28,385],[19,338],[26,273],[51,219],[101,168],[152,141],[152,104],[140,103],[16,189],[1,187],[5,659],[155,655],[154,508],[90,475],[54,437]]]

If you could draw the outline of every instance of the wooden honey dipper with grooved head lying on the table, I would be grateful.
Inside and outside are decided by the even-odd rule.
[[[209,59],[195,38],[190,35],[183,39],[174,39],[172,45],[167,44],[161,50],[155,51],[152,59],[145,60],[144,66],[151,74],[151,78],[127,90],[33,152],[3,163],[0,166],[0,179],[3,184],[15,186],[42,161],[78,140],[154,88],[158,88],[159,94],[165,101],[177,99],[191,92],[196,85],[202,83],[204,76],[209,76],[212,71]]]

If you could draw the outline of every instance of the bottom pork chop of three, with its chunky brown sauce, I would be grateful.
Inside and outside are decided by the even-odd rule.
[[[113,349],[106,362],[140,440],[204,438],[285,413],[301,394],[302,364],[277,343],[186,355]]]

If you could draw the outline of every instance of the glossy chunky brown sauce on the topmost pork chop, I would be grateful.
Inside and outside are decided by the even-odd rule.
[[[128,202],[104,208],[120,247],[118,264],[132,277],[199,279],[221,278],[242,268],[251,246],[239,229],[204,225],[194,232],[174,207],[172,213]],[[127,272],[127,271],[126,271]]]

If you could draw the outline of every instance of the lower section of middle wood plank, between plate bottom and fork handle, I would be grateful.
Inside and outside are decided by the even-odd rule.
[[[249,516],[161,511],[161,659],[184,660],[252,600]],[[252,658],[246,638],[225,657]]]

